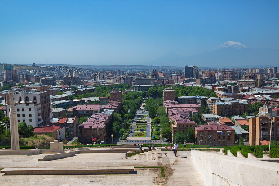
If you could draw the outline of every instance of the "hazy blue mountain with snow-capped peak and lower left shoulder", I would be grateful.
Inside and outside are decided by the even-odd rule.
[[[214,50],[182,56],[175,52],[143,64],[200,67],[271,67],[279,63],[278,49],[250,48],[240,42],[227,41]]]

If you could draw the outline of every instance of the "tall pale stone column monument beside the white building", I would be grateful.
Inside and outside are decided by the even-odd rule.
[[[15,109],[15,96],[13,92],[8,93],[9,102],[11,105],[10,109],[10,130],[11,130],[11,147],[12,150],[19,150],[19,139],[18,139],[18,124],[17,114]],[[7,112],[7,111],[6,111]]]

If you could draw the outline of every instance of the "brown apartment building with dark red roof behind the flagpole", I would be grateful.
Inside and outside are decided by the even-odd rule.
[[[227,125],[200,125],[195,127],[196,144],[223,146],[234,145],[235,130]],[[222,139],[223,137],[223,139]]]

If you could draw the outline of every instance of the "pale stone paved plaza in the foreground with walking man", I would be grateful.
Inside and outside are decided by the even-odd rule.
[[[110,149],[110,148],[91,148]],[[129,148],[137,150],[137,148]],[[87,186],[87,185],[204,185],[190,156],[191,151],[178,152],[174,157],[172,151],[152,151],[158,153],[157,159],[126,159],[126,153],[83,153],[64,159],[38,162],[47,154],[1,156],[0,168],[57,168],[57,169],[115,169],[134,167],[163,166],[166,177],[161,177],[158,168],[135,168],[136,174],[116,175],[3,175],[0,174],[2,186],[10,185],[48,185],[48,186]],[[114,150],[114,149],[111,149]],[[166,155],[164,154],[166,153]],[[165,157],[166,156],[166,157]]]

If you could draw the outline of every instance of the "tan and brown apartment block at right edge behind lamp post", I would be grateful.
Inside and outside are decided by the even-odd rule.
[[[270,136],[270,119],[257,117],[249,120],[249,145],[261,145]],[[272,118],[271,140],[279,141],[279,117]]]

